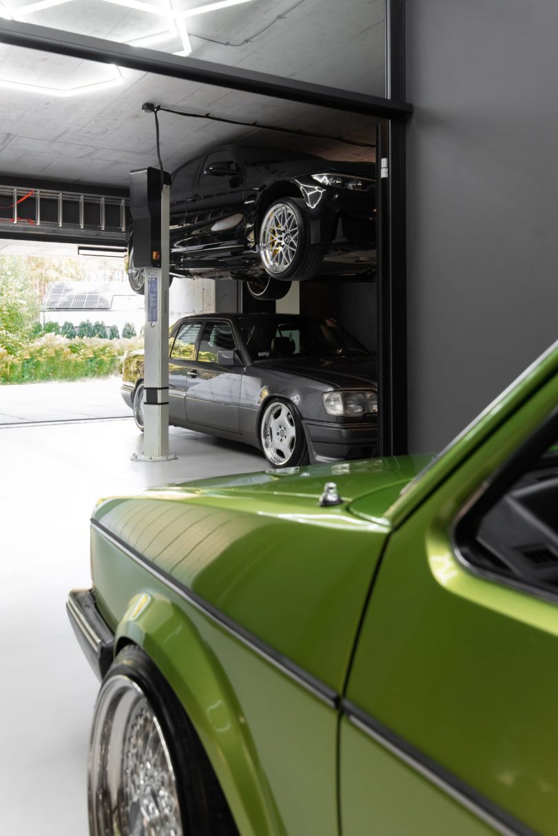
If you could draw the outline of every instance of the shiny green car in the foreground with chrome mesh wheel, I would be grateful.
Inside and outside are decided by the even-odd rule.
[[[558,833],[558,347],[442,455],[101,501],[100,834]]]

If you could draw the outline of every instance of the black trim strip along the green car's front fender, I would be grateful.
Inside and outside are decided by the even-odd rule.
[[[200,595],[192,592],[192,589],[188,589],[187,586],[177,582],[177,579],[173,578],[169,573],[156,567],[150,560],[145,558],[140,552],[136,551],[135,548],[132,548],[128,543],[125,543],[124,540],[112,533],[110,529],[105,528],[105,526],[98,520],[91,519],[91,525],[102,535],[102,537],[109,540],[111,543],[114,543],[115,546],[120,548],[120,550],[135,561],[135,563],[139,563],[141,567],[145,568],[154,577],[163,581],[174,593],[187,600],[188,604],[192,604],[192,606],[197,610],[207,615],[207,618],[211,619],[215,624],[218,624],[223,628],[223,630],[227,630],[229,634],[233,635],[234,638],[241,641],[243,645],[246,645],[264,660],[268,661],[270,665],[274,665],[275,668],[281,670],[285,675],[289,676],[290,679],[297,682],[299,686],[305,688],[306,691],[310,691],[311,694],[318,697],[318,699],[325,702],[325,704],[331,708],[337,708],[339,706],[340,698],[333,688],[325,685],[325,683],[318,680],[312,674],[309,674],[306,670],[304,670],[304,668],[301,668],[295,662],[291,661],[277,650],[274,650],[273,647],[270,647],[264,641],[260,640],[258,636],[253,635],[253,633],[250,633],[249,630],[246,630],[243,626],[241,626],[241,624],[238,624],[236,621],[229,618],[228,615],[223,614],[219,609],[214,607],[212,604],[209,604],[209,602],[203,599]]]

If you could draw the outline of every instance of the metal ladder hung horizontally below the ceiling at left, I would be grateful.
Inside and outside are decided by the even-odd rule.
[[[0,185],[2,237],[124,243],[129,217],[129,201],[121,197]]]

